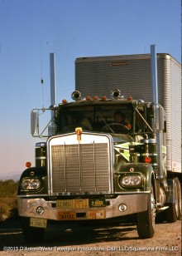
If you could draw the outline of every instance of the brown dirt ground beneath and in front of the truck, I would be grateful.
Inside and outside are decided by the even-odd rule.
[[[156,224],[152,239],[139,239],[136,226],[51,225],[43,242],[26,244],[21,223],[11,220],[0,223],[0,255],[181,255],[181,221]]]

